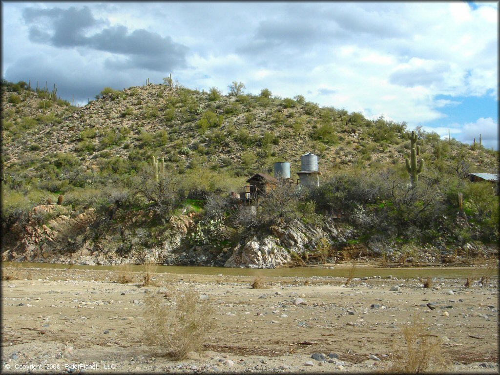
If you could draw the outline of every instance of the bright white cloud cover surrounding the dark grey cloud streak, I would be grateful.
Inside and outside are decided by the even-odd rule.
[[[307,100],[320,105],[362,111],[369,118],[383,114],[407,121],[409,127],[444,117],[443,108],[452,110],[459,104],[453,96],[497,99],[497,3],[477,3],[475,10],[464,2],[6,2],[2,6],[3,74],[14,81],[25,80],[28,72],[45,80],[43,73],[58,71],[60,79],[74,85],[75,69],[83,68],[80,86],[103,77],[115,82],[121,75],[120,86],[126,87],[141,84],[146,76],[161,82],[171,72],[189,87],[216,86],[225,92],[231,81],[242,81],[253,93],[267,87],[283,97],[307,94]],[[71,6],[88,6],[107,27],[121,24],[130,33],[144,29],[171,37],[189,49],[187,66],[154,73],[123,71],[105,64],[106,58],[116,60],[113,55],[85,49],[54,51],[53,46],[28,40],[20,16],[23,8]],[[82,56],[88,62],[79,61]],[[22,61],[30,61],[29,71],[19,67]],[[50,64],[50,69],[42,64]],[[464,122],[456,125],[456,136],[462,127],[465,133],[471,126]],[[447,136],[447,127],[443,135]]]

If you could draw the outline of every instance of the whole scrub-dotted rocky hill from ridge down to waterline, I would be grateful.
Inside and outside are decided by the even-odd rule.
[[[404,158],[410,154],[410,140],[404,122],[370,120],[361,113],[319,107],[301,95],[279,98],[267,89],[260,95],[250,95],[239,92],[237,86],[232,91],[231,95],[222,95],[215,87],[200,92],[165,84],[122,91],[104,88],[99,98],[76,107],[57,98],[55,88],[51,92],[33,90],[25,82],[2,81],[2,229],[11,233],[4,242],[7,252],[12,256],[14,251],[14,258],[23,254],[25,259],[62,261],[69,258],[64,252],[70,248],[71,254],[79,256],[95,253],[94,258],[100,256],[103,262],[104,258],[139,261],[156,249],[155,256],[167,263],[277,266],[299,262],[293,253],[303,261],[306,253],[319,251],[320,237],[328,239],[330,255],[337,258],[342,257],[342,248],[353,244],[378,248],[370,240],[383,232],[392,233],[388,242],[381,242],[395,253],[400,252],[397,243],[408,240],[462,249],[474,241],[477,243],[471,246],[480,248],[480,243],[497,240],[497,226],[495,229],[484,218],[485,212],[497,209],[491,208],[489,197],[481,206],[477,201],[481,192],[464,180],[470,171],[496,172],[496,151],[479,144],[439,139],[436,133],[417,129],[418,158],[425,161],[421,189],[426,186],[426,192],[418,195],[417,190],[407,187]],[[230,210],[222,212],[220,224],[224,230],[219,233],[220,239],[206,243],[192,240],[194,230],[206,231],[207,225],[212,225],[208,219],[213,216],[205,207],[207,194],[241,191],[249,175],[272,174],[274,161],[289,161],[294,178],[300,155],[307,151],[319,156],[323,190],[293,201],[296,207],[290,212],[294,213],[279,222],[280,230],[291,230],[297,233],[296,238],[305,238],[300,246],[283,239],[277,234],[279,230],[270,230],[272,225],[264,225],[266,229],[260,231],[242,228]],[[171,191],[173,200],[161,212],[157,202],[138,188],[139,176],[148,169],[153,156],[163,157],[167,174],[177,178],[175,191]],[[392,187],[387,185],[390,178],[383,177],[385,185],[382,183],[381,173],[397,176],[392,179]],[[347,178],[342,177],[349,186],[338,186],[343,181],[341,176]],[[373,181],[378,183],[376,189],[356,185]],[[486,195],[491,194],[487,189],[483,189]],[[431,190],[436,195],[427,201]],[[458,191],[465,194],[465,211],[460,214],[468,215],[466,225],[453,221]],[[408,193],[416,195],[404,200]],[[44,210],[41,221],[31,220],[33,207],[45,207],[60,194],[64,196],[60,206],[66,211],[57,211],[54,216],[50,209]],[[415,213],[414,219],[409,219],[411,214],[401,207]],[[89,209],[93,209],[90,216]],[[333,224],[332,210],[343,212],[343,220]],[[429,215],[434,211],[431,217],[424,217],[416,214],[420,210]],[[183,229],[177,227],[176,220],[189,212],[192,215]],[[93,219],[83,232],[67,229],[76,221],[64,225],[69,245],[65,239],[50,239],[45,229],[54,225],[48,224],[50,220],[56,216],[74,220],[80,214]],[[370,214],[378,218],[378,226]],[[404,218],[401,225],[398,215]],[[196,229],[199,222],[204,226]],[[344,232],[335,227],[347,229]],[[411,234],[408,227],[416,228],[416,232]],[[43,238],[38,238],[40,230],[46,234]],[[33,233],[38,234],[33,237]],[[51,244],[41,246],[42,242]],[[366,246],[368,243],[371,247]],[[45,254],[55,251],[62,257],[44,258],[42,247],[46,247]],[[435,254],[439,257],[439,250]]]

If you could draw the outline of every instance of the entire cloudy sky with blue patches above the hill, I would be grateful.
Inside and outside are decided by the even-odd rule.
[[[497,2],[2,1],[2,77],[80,104],[169,73],[241,81],[498,149],[497,19]]]

